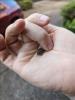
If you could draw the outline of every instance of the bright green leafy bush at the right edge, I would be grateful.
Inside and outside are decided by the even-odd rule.
[[[75,32],[75,0],[72,0],[62,8],[63,25]]]

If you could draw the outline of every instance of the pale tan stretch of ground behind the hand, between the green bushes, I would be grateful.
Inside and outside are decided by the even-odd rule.
[[[33,9],[27,10],[24,12],[25,17],[29,16],[32,13],[42,13],[46,15],[50,15],[50,12],[53,12],[55,10],[60,10],[63,5],[67,3],[66,0],[43,0],[39,2],[35,2],[33,4]]]

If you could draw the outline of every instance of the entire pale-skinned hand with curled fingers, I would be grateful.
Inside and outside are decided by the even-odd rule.
[[[42,56],[38,44],[46,50]],[[47,16],[33,14],[8,26],[5,39],[0,35],[0,60],[37,87],[75,94],[75,35]]]

